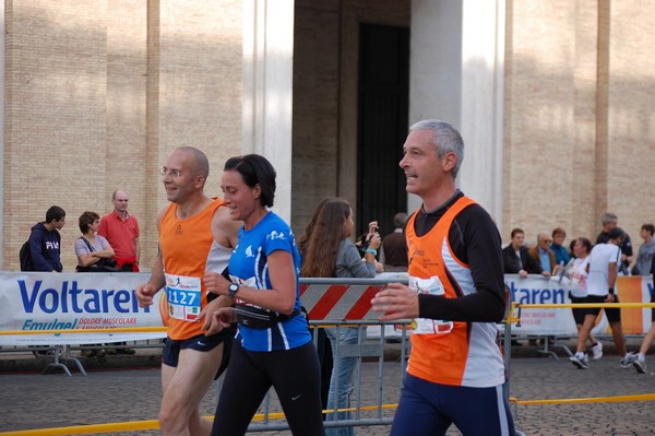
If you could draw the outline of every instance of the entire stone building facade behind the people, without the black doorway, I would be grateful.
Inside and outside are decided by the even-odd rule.
[[[408,30],[407,122],[461,130],[458,184],[503,240],[595,238],[609,210],[638,245],[655,221],[653,19],[655,0],[7,0],[3,268],[58,204],[72,271],[78,216],[118,188],[150,264],[178,145],[207,153],[213,196],[227,157],[270,157],[296,233],[324,196],[357,204],[362,24]]]

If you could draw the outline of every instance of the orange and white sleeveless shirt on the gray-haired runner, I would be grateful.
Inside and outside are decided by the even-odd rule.
[[[416,213],[409,219],[405,232],[409,248],[410,286],[413,282],[426,283],[430,278],[436,281],[434,276],[438,276],[442,295],[457,298],[450,275],[464,295],[476,292],[468,266],[455,258],[449,243],[451,224],[471,204],[475,204],[475,201],[462,197],[432,229],[420,237],[414,231]],[[413,287],[416,291],[420,286],[417,284]],[[504,382],[504,364],[496,345],[498,329],[495,323],[436,322],[433,331],[434,333],[426,334],[412,333],[407,373],[428,381],[451,386],[490,387]]]

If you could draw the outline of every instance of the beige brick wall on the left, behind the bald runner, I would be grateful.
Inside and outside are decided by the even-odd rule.
[[[210,157],[221,195],[241,150],[241,2],[21,0],[5,9],[4,270],[51,204],[67,211],[64,270],[79,215],[131,193],[142,263],[157,252],[157,173],[178,145]]]

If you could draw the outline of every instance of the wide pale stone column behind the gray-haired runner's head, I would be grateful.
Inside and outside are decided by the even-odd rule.
[[[464,139],[457,185],[502,220],[504,0],[412,2],[409,125],[439,118]],[[420,204],[409,196],[408,210]]]

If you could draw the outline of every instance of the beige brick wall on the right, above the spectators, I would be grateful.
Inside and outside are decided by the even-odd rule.
[[[503,240],[561,226],[595,240],[611,211],[655,221],[654,2],[508,1]],[[635,247],[636,249],[636,247]]]

